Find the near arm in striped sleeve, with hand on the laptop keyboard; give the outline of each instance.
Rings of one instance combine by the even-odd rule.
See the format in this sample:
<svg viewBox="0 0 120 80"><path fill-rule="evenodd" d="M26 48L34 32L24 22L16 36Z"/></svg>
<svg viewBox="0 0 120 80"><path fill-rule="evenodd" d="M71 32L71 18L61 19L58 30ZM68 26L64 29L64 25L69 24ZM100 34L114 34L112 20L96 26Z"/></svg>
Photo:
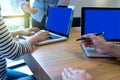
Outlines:
<svg viewBox="0 0 120 80"><path fill-rule="evenodd" d="M18 34L18 33L17 33ZM20 34L20 33L19 33ZM16 35L16 33L14 33ZM32 46L37 41L45 40L49 37L49 32L38 32L29 40L15 41L1 17L0 7L0 54L9 59L15 59L21 55L30 52Z"/></svg>

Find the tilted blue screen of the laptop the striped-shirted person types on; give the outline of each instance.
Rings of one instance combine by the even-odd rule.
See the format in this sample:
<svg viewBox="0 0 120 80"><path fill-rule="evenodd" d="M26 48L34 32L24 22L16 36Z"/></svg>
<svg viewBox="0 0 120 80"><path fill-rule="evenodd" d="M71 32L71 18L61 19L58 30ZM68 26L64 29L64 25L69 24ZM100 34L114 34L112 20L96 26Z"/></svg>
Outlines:
<svg viewBox="0 0 120 80"><path fill-rule="evenodd" d="M71 27L72 9L63 7L50 7L46 29L68 36Z"/></svg>

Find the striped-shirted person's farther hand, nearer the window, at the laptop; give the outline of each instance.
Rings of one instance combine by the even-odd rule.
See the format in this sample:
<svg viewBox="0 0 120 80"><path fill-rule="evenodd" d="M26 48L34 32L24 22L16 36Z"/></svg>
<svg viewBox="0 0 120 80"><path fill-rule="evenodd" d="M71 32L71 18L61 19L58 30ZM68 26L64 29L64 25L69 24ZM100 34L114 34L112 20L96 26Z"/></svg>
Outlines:
<svg viewBox="0 0 120 80"><path fill-rule="evenodd" d="M33 35L33 34L35 34L35 33L38 32L38 31L40 31L40 29L37 28L37 27L26 28L26 29L24 29L24 30L21 30L22 35L24 35L24 36Z"/></svg>

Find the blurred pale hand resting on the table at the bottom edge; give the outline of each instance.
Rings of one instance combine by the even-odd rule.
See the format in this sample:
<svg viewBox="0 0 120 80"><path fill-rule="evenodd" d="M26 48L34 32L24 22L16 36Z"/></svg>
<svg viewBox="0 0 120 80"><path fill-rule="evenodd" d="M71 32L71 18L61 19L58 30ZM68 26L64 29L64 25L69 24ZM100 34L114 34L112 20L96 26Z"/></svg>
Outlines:
<svg viewBox="0 0 120 80"><path fill-rule="evenodd" d="M63 80L93 80L92 76L85 70L67 68L62 72Z"/></svg>

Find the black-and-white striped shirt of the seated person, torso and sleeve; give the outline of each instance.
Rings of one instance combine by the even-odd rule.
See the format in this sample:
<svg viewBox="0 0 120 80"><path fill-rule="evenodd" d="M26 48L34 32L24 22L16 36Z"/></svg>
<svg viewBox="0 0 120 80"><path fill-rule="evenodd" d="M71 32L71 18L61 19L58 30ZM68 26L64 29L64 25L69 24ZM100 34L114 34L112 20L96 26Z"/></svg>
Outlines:
<svg viewBox="0 0 120 80"><path fill-rule="evenodd" d="M6 79L6 58L15 59L29 52L31 45L28 41L15 41L6 28L1 16L0 7L0 80Z"/></svg>

